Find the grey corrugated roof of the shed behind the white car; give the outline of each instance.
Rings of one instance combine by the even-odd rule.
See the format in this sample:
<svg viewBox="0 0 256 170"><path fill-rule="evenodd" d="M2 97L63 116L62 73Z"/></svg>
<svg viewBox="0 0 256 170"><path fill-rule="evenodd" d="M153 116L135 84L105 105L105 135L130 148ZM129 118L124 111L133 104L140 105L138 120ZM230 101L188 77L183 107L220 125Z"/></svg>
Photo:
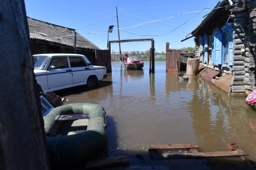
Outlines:
<svg viewBox="0 0 256 170"><path fill-rule="evenodd" d="M72 47L74 45L75 29L54 25L52 23L47 23L36 19L31 19L30 17L28 17L28 26L31 39L56 42ZM97 50L100 49L95 44L93 44L93 42L87 40L87 38L83 37L78 32L76 34L76 47Z"/></svg>

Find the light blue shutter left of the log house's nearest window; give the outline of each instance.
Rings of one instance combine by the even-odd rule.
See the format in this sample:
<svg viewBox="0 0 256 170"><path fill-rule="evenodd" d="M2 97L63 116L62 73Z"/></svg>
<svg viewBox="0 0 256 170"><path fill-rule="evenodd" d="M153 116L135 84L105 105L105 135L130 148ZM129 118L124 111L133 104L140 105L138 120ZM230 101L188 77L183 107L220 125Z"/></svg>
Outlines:
<svg viewBox="0 0 256 170"><path fill-rule="evenodd" d="M215 33L215 65L221 64L222 56L222 33L217 29Z"/></svg>

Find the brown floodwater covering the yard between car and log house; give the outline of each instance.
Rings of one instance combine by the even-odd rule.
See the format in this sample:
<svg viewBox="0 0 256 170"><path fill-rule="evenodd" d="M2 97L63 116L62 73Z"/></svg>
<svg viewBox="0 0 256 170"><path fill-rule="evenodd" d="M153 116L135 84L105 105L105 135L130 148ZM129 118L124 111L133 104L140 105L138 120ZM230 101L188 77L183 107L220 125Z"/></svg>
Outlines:
<svg viewBox="0 0 256 170"><path fill-rule="evenodd" d="M155 74L148 73L148 62L141 71L114 62L99 88L57 93L70 102L102 105L109 156L130 156L133 169L247 169L233 158L154 161L147 153L150 144L197 144L203 151L222 151L236 142L256 161L256 111L245 97L230 96L198 75L179 81L176 73L165 72L165 62L156 62Z"/></svg>

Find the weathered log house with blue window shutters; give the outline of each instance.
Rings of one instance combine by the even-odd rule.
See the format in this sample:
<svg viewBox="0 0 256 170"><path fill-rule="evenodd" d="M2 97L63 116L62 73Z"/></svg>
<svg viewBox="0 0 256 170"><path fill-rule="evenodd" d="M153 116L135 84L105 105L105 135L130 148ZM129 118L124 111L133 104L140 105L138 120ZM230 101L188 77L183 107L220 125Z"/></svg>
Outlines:
<svg viewBox="0 0 256 170"><path fill-rule="evenodd" d="M219 2L191 34L195 38L195 56L200 58L200 67L205 68L201 75L210 74L213 83L216 75L218 81L225 75L219 87L227 86L222 89L228 93L253 90L256 1Z"/></svg>

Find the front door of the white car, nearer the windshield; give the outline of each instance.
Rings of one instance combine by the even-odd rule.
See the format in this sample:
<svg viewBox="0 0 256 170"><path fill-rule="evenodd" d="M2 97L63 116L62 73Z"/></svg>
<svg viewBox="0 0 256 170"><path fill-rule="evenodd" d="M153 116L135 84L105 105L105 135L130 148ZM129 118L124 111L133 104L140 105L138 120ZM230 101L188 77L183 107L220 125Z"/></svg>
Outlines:
<svg viewBox="0 0 256 170"><path fill-rule="evenodd" d="M72 85L72 70L67 57L52 58L47 68L47 83L49 89Z"/></svg>

